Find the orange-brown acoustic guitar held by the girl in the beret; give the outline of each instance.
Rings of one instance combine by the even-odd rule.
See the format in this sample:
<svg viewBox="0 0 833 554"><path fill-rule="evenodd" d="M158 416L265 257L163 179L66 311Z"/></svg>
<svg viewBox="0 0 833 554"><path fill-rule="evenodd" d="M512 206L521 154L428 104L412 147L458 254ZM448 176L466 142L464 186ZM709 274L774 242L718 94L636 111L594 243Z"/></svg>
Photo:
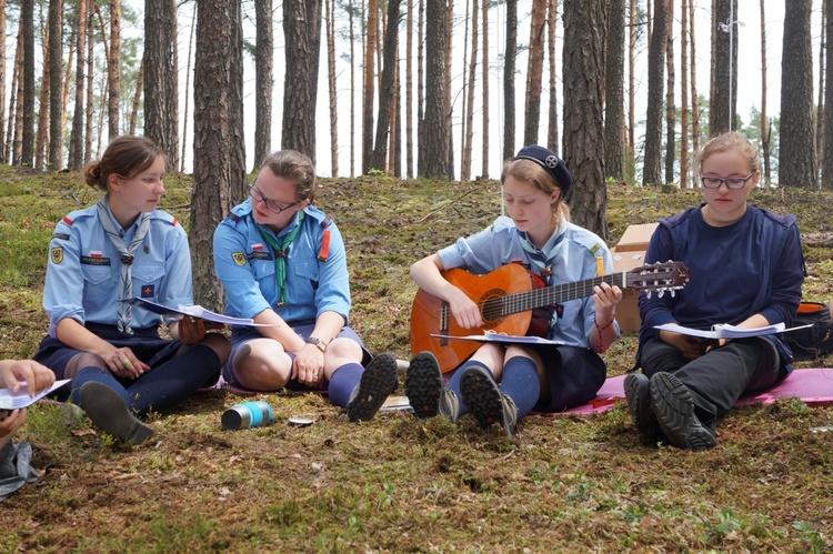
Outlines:
<svg viewBox="0 0 833 554"><path fill-rule="evenodd" d="M485 275L474 275L461 269L443 271L442 275L465 292L480 306L483 316L483 326L463 329L456 324L446 302L422 289L416 291L411 306L411 352L432 352L440 362L440 370L445 373L465 361L481 344L432 334L465 336L493 331L543 336L554 304L591 296L595 285L604 282L621 289L648 291L649 294L652 291L673 294L685 285L689 270L682 262L655 263L553 286L546 286L539 275L514 263Z"/></svg>

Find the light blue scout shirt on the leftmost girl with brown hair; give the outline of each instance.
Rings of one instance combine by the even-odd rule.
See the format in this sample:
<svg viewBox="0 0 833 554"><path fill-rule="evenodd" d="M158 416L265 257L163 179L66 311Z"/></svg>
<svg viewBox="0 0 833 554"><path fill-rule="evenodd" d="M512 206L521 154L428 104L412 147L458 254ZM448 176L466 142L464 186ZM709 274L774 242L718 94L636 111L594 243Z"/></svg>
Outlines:
<svg viewBox="0 0 833 554"><path fill-rule="evenodd" d="M124 242L136 234L139 220L124 231L107 210ZM154 210L144 242L134 254L133 296L160 304L191 304L191 253L188 235L167 212ZM120 298L121 256L99 221L96 205L64 216L49 242L49 263L43 288L43 308L49 316L49 335L64 318L116 325ZM134 308L131 326L157 326L162 316Z"/></svg>

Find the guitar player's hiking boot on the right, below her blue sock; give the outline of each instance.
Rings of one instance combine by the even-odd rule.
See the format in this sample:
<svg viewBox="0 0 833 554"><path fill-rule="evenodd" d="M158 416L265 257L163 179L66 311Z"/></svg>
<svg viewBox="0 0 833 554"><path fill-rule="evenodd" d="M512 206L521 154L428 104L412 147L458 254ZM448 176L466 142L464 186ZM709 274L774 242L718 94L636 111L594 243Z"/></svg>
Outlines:
<svg viewBox="0 0 833 554"><path fill-rule="evenodd" d="M489 429L500 423L506 436L512 439L518 425L518 407L512 399L501 393L489 370L480 365L463 370L460 393L481 427Z"/></svg>

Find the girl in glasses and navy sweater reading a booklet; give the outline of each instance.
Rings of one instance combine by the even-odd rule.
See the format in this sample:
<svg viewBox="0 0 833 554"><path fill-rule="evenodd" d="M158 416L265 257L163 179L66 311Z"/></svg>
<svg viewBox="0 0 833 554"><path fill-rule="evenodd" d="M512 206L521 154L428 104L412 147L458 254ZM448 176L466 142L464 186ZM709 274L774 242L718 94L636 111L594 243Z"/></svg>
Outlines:
<svg viewBox="0 0 833 554"><path fill-rule="evenodd" d="M713 138L697 168L704 202L660 220L645 255L648 263L684 262L691 281L674 296L640 296L642 373L628 375L624 387L641 432L702 451L716 445L717 419L741 394L771 387L792 371L792 354L777 335L706 341L654 325L789 326L801 299L804 259L793 215L747 203L761 172L745 137Z"/></svg>

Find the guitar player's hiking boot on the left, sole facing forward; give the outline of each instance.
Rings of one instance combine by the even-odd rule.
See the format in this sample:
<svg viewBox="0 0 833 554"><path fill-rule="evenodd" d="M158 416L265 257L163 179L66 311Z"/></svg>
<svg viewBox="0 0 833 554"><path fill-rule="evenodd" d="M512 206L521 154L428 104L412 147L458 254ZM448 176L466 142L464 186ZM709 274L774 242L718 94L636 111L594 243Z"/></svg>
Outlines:
<svg viewBox="0 0 833 554"><path fill-rule="evenodd" d="M420 420L442 414L452 423L460 416L460 400L445 389L440 364L431 352L420 352L405 373L405 396Z"/></svg>

